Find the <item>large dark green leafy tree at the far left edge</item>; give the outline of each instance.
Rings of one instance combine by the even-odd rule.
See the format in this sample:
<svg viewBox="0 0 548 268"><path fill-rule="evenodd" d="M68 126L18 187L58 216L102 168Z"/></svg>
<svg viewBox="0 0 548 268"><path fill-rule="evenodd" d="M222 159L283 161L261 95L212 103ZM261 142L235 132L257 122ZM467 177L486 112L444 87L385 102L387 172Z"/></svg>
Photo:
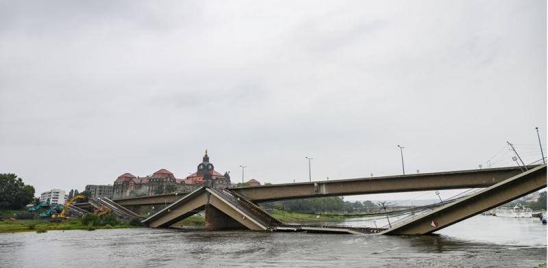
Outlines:
<svg viewBox="0 0 548 268"><path fill-rule="evenodd" d="M34 187L15 174L0 174L0 208L21 209L34 201Z"/></svg>

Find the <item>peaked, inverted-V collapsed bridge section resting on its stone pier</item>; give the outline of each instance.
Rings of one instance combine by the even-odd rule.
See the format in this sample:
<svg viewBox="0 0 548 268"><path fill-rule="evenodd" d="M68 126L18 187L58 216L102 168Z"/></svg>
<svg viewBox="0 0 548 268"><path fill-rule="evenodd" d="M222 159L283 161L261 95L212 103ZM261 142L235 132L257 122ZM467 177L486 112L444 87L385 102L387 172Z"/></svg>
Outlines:
<svg viewBox="0 0 548 268"><path fill-rule="evenodd" d="M169 227L200 211L206 211L208 230L269 230L282 224L256 204L229 191L200 187L158 211L142 223L149 227Z"/></svg>

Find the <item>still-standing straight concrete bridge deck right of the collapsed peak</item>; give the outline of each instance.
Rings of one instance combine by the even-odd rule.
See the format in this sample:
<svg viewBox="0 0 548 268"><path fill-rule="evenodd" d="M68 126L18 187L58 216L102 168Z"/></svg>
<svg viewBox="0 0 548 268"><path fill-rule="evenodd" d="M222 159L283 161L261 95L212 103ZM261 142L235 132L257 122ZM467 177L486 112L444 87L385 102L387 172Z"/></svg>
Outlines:
<svg viewBox="0 0 548 268"><path fill-rule="evenodd" d="M312 183L284 183L260 187L236 187L230 190L253 202L269 202L320 196L483 188L500 183L519 173L521 173L519 167L499 167L376 178L324 180Z"/></svg>

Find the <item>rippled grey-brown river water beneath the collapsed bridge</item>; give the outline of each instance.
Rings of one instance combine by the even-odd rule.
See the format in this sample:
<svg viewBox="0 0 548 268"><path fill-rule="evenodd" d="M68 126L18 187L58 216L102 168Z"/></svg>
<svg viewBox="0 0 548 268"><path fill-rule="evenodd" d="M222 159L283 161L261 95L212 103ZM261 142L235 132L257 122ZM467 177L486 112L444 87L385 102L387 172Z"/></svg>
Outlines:
<svg viewBox="0 0 548 268"><path fill-rule="evenodd" d="M439 235L412 237L196 228L20 232L0 234L0 267L534 267L547 261L546 235L536 218L482 215Z"/></svg>

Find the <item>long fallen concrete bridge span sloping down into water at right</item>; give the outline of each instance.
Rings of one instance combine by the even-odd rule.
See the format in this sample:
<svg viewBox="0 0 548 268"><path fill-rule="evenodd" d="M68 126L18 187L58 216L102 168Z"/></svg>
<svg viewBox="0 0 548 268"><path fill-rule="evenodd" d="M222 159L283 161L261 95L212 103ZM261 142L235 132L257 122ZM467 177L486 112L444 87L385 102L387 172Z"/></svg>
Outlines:
<svg viewBox="0 0 548 268"><path fill-rule="evenodd" d="M545 187L546 165L539 165L461 200L397 224L380 235L427 235Z"/></svg>

